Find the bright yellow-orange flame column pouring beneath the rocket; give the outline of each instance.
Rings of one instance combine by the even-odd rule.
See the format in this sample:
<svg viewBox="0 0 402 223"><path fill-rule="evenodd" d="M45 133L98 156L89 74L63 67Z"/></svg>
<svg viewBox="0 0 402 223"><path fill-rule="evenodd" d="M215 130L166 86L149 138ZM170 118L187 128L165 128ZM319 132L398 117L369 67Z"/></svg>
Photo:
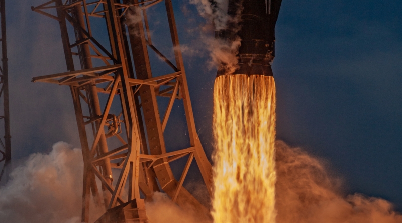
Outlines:
<svg viewBox="0 0 402 223"><path fill-rule="evenodd" d="M275 222L275 107L273 77L215 80L215 223Z"/></svg>

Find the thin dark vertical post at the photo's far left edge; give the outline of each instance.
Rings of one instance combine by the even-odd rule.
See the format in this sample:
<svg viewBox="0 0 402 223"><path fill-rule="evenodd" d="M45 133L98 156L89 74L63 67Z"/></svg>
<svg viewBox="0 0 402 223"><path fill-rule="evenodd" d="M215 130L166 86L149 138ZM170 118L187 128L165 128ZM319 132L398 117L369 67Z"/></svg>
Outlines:
<svg viewBox="0 0 402 223"><path fill-rule="evenodd" d="M4 146L6 153L5 166L11 162L11 135L10 135L10 109L9 109L9 70L7 61L7 41L6 41L6 8L5 0L1 0L1 19L2 19L2 63L3 63L3 100L4 100ZM7 167L8 169L10 167ZM6 169L6 177L7 177Z"/></svg>

